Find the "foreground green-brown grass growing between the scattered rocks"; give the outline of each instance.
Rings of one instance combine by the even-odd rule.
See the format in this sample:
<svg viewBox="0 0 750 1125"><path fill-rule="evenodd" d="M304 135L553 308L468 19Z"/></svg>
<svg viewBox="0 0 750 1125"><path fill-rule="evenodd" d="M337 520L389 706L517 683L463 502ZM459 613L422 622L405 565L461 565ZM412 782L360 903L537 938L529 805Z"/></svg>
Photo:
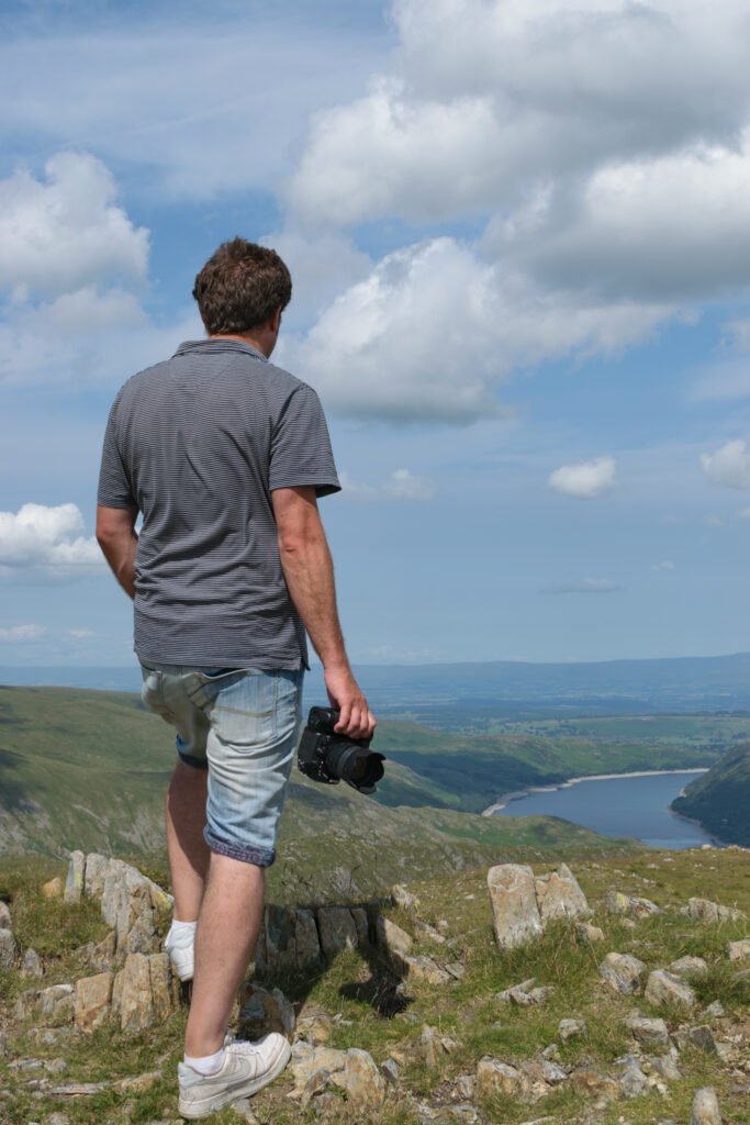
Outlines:
<svg viewBox="0 0 750 1125"><path fill-rule="evenodd" d="M557 857L555 857L557 862ZM549 860L535 865L539 872L549 870ZM458 1076L472 1074L477 1062L489 1054L513 1063L539 1059L551 1042L559 1042L558 1023L575 1017L586 1020L586 1040L561 1044L566 1064L586 1064L618 1073L616 1060L631 1050L623 1019L635 1010L648 1016L665 1015L674 1032L685 1020L677 1011L651 1009L642 997L620 997L602 989L598 964L609 950L631 953L649 969L663 968L686 954L704 957L708 975L697 984L701 1006L720 999L728 1011L726 1020L713 1023L720 1037L744 1033L750 1036L750 984L738 982L726 960L726 943L748 934L747 924L725 922L710 926L686 919L678 908L690 896L719 899L726 904L748 909L750 903L750 864L748 854L732 850L657 853L643 852L622 857L580 857L573 864L589 902L596 911L595 922L603 927L606 940L588 948L575 940L572 927L558 925L540 940L513 953L497 952L491 933L491 918L486 889L486 870L461 874L444 873L418 884L410 884L421 902L421 917L435 924L445 919L453 945L445 952L428 943L417 945L419 952L439 961L463 963L464 978L457 984L430 987L409 982L404 1010L385 1017L381 1002L392 990L385 971L374 958L360 953L342 954L323 972L310 978L274 979L291 1000L322 1006L334 1024L331 1046L356 1046L371 1052L378 1063L391 1053L399 1058L400 1082L389 1094L386 1107L369 1116L371 1125L418 1125L417 1104L430 1106L451 1104L451 1083ZM40 883L56 873L53 861L0 860L0 897L10 900L16 933L21 948L35 946L47 961L46 984L70 981L84 973L74 951L85 940L102 936L103 929L96 907L83 902L63 908L44 902ZM308 872L309 873L309 872ZM611 888L631 894L642 894L666 908L663 915L639 921L627 929L620 917L604 909ZM394 908L385 912L400 926L413 930L413 919ZM554 992L548 1004L537 1008L516 1009L498 1004L494 997L500 990L536 976L539 983L551 984ZM28 988L17 973L0 974L0 1030L9 1035L10 1054L0 1058L0 1087L10 1098L0 1107L0 1119L8 1125L46 1120L61 1108L71 1125L146 1125L174 1117L175 1062L181 1053L184 1012L177 1012L159 1027L137 1036L123 1035L109 1026L94 1036L73 1036L64 1045L45 1045L36 1037L36 1028L15 1027L10 1022L11 1004L18 991ZM696 1015L689 1023L702 1023ZM428 1024L455 1042L451 1054L442 1058L432 1070L425 1068L421 1044L422 1028ZM742 1045L737 1047L739 1052ZM654 1053L661 1053L656 1051ZM13 1058L53 1060L64 1055L69 1070L64 1081L98 1081L161 1071L162 1078L151 1090L136 1094L105 1091L93 1098L69 1099L64 1105L49 1096L35 1098L30 1080L37 1072L12 1070ZM695 1090L714 1086L719 1092L724 1125L746 1125L747 1092L737 1064L724 1064L715 1056L696 1050L685 1050L679 1056L683 1079L669 1083L662 1098L653 1092L633 1100L617 1100L594 1108L568 1090L554 1092L535 1106L504 1099L482 1106L484 1119L519 1125L530 1119L543 1119L549 1125L654 1125L670 1119L687 1123ZM311 1120L287 1098L288 1076L262 1091L253 1100L253 1110L261 1122L274 1125L301 1125ZM336 1123L351 1125L351 1114L342 1104ZM441 1120L453 1120L445 1113ZM224 1110L211 1118L213 1125L237 1125L240 1117Z"/></svg>

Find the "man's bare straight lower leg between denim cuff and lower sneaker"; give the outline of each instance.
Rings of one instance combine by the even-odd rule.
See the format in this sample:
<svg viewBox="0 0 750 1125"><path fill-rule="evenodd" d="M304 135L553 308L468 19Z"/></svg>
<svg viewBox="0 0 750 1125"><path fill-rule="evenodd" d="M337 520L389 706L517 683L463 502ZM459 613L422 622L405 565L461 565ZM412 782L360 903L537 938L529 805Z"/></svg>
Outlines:
<svg viewBox="0 0 750 1125"><path fill-rule="evenodd" d="M232 1006L257 940L263 890L263 867L211 854L184 1037L184 1053L193 1059L214 1054L224 1043Z"/></svg>

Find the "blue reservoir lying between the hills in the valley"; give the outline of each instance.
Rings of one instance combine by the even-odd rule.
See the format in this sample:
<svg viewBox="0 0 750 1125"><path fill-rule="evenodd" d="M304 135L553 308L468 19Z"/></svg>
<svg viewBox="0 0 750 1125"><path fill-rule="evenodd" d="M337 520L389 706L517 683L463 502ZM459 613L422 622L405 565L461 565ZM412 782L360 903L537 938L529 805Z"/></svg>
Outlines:
<svg viewBox="0 0 750 1125"><path fill-rule="evenodd" d="M670 812L669 804L703 771L582 778L561 789L536 790L505 798L501 817L561 817L603 836L634 836L651 847L672 850L716 840L690 820Z"/></svg>

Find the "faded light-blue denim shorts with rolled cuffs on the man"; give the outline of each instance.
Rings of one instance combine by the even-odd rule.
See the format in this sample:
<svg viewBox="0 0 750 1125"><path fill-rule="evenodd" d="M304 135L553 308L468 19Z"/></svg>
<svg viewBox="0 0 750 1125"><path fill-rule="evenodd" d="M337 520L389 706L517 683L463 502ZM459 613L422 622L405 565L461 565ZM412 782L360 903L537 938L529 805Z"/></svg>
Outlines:
<svg viewBox="0 0 750 1125"><path fill-rule="evenodd" d="M208 770L206 843L269 867L299 740L302 670L142 668L144 704L175 728L181 760Z"/></svg>

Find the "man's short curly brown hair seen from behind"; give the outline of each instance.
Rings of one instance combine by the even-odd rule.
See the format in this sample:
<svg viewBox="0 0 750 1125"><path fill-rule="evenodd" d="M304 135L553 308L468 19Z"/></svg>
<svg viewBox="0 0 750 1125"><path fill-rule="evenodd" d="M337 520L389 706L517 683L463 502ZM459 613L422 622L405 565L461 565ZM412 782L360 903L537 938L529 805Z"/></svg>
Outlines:
<svg viewBox="0 0 750 1125"><path fill-rule="evenodd" d="M211 254L192 295L210 336L244 335L287 307L291 274L275 250L237 237Z"/></svg>

